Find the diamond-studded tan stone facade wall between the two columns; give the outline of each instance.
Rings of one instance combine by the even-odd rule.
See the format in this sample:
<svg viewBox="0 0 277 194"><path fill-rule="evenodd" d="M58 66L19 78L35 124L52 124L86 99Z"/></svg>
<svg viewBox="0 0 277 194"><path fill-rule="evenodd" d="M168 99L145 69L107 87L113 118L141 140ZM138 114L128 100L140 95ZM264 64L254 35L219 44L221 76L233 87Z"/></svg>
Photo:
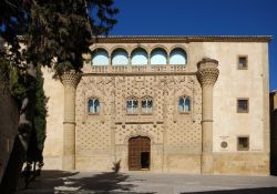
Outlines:
<svg viewBox="0 0 277 194"><path fill-rule="evenodd" d="M145 96L153 99L152 114L141 112ZM179 96L191 98L188 113L179 113ZM99 114L89 113L91 98L100 100ZM138 101L136 114L126 113L129 98ZM106 156L121 159L126 167L129 139L138 135L151 139L153 159L161 165L171 154L201 153L201 85L195 75L84 75L75 105L76 157L105 155L104 163Z"/></svg>

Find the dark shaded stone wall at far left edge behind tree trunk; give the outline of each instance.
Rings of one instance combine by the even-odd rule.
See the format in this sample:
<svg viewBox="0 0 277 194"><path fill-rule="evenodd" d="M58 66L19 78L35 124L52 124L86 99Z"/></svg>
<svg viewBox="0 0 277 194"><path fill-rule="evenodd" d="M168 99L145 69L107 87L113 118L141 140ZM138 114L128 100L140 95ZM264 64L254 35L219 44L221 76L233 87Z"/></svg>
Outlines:
<svg viewBox="0 0 277 194"><path fill-rule="evenodd" d="M0 78L0 182L12 151L18 133L19 112L9 86Z"/></svg>

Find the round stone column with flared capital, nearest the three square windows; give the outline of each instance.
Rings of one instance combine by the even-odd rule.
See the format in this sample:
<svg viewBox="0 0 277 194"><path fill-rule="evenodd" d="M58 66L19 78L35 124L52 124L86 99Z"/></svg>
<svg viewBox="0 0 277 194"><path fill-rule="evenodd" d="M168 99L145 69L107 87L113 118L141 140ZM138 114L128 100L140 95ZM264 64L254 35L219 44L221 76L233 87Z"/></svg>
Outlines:
<svg viewBox="0 0 277 194"><path fill-rule="evenodd" d="M202 85L202 160L201 172L213 173L213 89L218 78L218 61L204 58L197 63L197 79Z"/></svg>

